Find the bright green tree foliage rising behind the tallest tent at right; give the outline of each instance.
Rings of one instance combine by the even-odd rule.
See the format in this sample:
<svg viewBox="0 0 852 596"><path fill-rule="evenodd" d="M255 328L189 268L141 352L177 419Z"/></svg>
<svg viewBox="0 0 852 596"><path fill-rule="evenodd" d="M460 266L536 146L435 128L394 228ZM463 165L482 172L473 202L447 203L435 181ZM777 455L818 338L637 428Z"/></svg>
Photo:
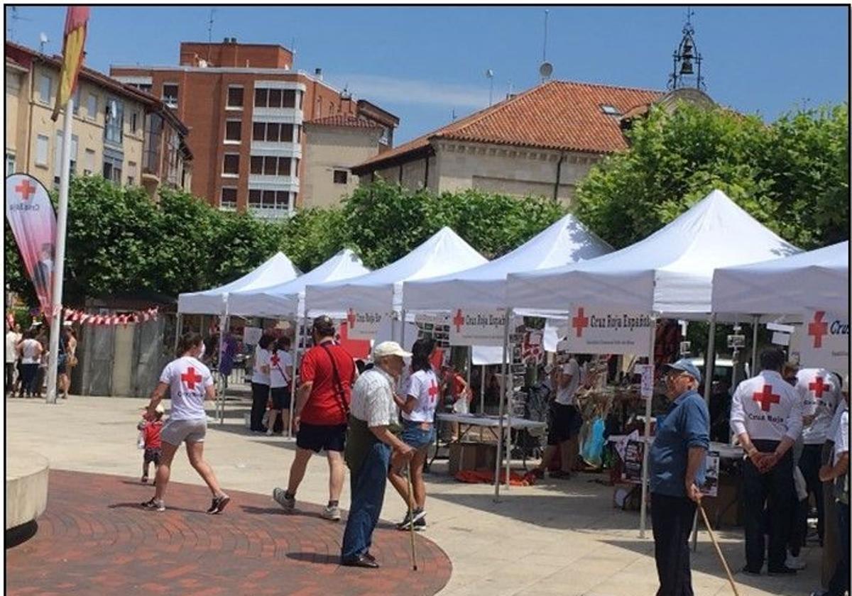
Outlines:
<svg viewBox="0 0 852 596"><path fill-rule="evenodd" d="M848 107L797 112L770 125L729 110L654 107L630 149L579 185L576 214L623 248L714 188L803 249L849 236Z"/></svg>

